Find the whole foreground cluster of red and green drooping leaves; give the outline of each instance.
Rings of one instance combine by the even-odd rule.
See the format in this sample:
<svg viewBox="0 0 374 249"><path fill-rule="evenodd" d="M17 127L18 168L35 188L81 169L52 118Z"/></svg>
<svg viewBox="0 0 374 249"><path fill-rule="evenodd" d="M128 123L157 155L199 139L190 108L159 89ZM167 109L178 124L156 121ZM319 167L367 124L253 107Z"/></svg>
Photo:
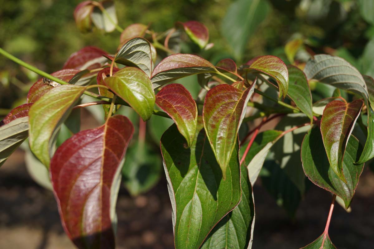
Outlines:
<svg viewBox="0 0 374 249"><path fill-rule="evenodd" d="M83 31L92 23L108 32L118 27L109 0L85 1L74 17ZM178 53L181 34L200 49L212 46L207 28L196 21L178 22L162 34L133 24L122 31L114 55L85 47L62 70L42 72L45 78L30 88L27 103L1 121L0 166L28 139L49 175L45 185L53 189L64 230L78 248L114 248L122 175L134 195L157 181L150 173L156 166L144 165L153 154L145 121L154 115L175 123L163 133L160 150L177 249L251 248L258 176L291 216L306 191L306 177L349 208L364 163L374 157L373 78L337 56L295 58L304 50L302 39L285 47L293 65L271 55L239 67L230 58L213 65ZM201 88L197 99L172 83L192 75ZM313 101L312 85L334 90ZM83 95L98 101L80 104ZM79 131L76 110L98 104L104 124ZM126 107L140 119L122 115ZM260 132L278 117L275 129ZM257 118L262 122L249 130L248 122ZM131 142L134 122L138 139ZM141 167L147 167L147 181L134 184ZM325 229L305 248L335 246Z"/></svg>

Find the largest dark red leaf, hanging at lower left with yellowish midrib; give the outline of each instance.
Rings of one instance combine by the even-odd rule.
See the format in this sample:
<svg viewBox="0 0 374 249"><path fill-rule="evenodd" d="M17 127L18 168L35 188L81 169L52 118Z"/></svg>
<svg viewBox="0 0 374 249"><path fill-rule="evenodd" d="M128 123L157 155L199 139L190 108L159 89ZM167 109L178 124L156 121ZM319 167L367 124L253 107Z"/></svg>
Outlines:
<svg viewBox="0 0 374 249"><path fill-rule="evenodd" d="M116 115L102 126L69 138L51 160L50 175L61 222L80 249L114 249L112 222L120 172L133 133L128 118Z"/></svg>

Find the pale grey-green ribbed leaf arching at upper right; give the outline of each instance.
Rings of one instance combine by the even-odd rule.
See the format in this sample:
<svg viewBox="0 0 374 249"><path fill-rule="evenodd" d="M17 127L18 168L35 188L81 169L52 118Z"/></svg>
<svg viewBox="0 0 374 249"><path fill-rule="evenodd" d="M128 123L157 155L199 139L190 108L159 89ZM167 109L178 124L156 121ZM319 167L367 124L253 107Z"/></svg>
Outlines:
<svg viewBox="0 0 374 249"><path fill-rule="evenodd" d="M361 73L343 58L315 55L313 59L307 61L304 73L308 80L315 79L369 98L368 89Z"/></svg>

